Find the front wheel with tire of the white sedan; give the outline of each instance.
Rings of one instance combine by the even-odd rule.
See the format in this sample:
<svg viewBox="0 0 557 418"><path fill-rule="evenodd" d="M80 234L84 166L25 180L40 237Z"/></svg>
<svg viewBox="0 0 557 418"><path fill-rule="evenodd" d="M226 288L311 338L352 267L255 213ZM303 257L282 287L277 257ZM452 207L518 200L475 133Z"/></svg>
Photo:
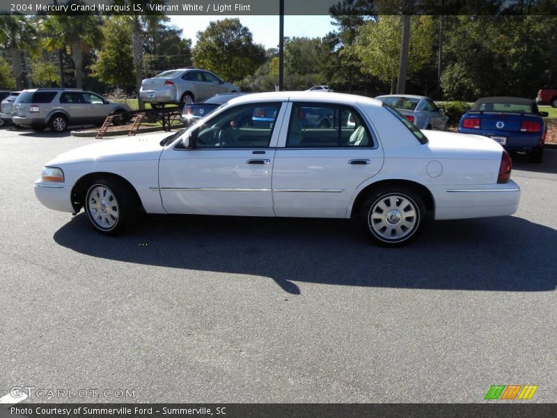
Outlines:
<svg viewBox="0 0 557 418"><path fill-rule="evenodd" d="M102 190L108 193L103 194ZM104 235L118 235L139 222L141 204L129 185L100 178L88 187L84 208L95 231Z"/></svg>

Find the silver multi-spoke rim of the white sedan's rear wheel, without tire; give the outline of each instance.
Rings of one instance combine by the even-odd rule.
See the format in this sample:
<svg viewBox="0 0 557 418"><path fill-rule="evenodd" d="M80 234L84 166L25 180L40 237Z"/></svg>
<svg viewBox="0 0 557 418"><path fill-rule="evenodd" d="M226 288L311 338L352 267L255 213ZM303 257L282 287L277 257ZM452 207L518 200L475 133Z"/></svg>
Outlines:
<svg viewBox="0 0 557 418"><path fill-rule="evenodd" d="M418 224L418 211L411 199L399 194L384 196L373 203L368 218L375 235L389 241L410 235Z"/></svg>

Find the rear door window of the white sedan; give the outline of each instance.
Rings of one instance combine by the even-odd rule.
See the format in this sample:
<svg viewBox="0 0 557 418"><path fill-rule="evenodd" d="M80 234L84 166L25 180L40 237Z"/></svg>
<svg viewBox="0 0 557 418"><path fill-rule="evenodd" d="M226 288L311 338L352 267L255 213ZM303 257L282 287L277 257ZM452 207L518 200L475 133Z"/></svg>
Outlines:
<svg viewBox="0 0 557 418"><path fill-rule="evenodd" d="M292 105L287 148L372 147L370 131L356 109L338 104Z"/></svg>

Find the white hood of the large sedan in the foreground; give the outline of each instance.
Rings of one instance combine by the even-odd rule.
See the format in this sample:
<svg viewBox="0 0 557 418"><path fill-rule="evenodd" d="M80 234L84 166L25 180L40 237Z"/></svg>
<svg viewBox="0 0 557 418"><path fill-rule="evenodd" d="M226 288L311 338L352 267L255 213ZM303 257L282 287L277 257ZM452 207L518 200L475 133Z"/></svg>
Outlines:
<svg viewBox="0 0 557 418"><path fill-rule="evenodd" d="M169 135L171 133L160 132L141 137L104 139L96 144L81 146L58 155L46 165L56 166L92 161L158 160L163 150L160 141Z"/></svg>

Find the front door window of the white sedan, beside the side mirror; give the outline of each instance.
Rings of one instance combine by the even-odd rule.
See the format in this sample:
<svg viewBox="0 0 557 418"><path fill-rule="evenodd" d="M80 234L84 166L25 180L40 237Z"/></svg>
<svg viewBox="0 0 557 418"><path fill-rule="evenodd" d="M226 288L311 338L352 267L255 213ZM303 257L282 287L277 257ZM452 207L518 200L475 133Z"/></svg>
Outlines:
<svg viewBox="0 0 557 418"><path fill-rule="evenodd" d="M231 107L197 128L196 148L267 148L281 103Z"/></svg>

